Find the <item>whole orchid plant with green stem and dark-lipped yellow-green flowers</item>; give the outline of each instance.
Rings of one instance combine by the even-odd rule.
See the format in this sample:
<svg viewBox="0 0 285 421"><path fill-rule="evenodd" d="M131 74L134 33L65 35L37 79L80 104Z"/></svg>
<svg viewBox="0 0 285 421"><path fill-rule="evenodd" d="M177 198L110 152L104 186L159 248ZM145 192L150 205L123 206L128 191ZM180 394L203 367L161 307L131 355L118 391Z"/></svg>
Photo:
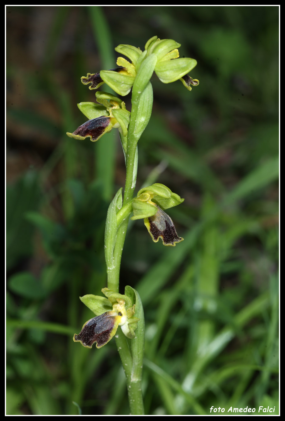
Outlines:
<svg viewBox="0 0 285 421"><path fill-rule="evenodd" d="M132 415L143 414L142 368L144 347L144 316L140 296L134 288L126 285L125 294L119 293L121 255L126 229L131 219L143 219L154 242L161 238L163 245L175 246L183 241L179 237L171 218L164 212L179 205L184 199L160 183L140 189L136 197L137 142L145 130L152 111L153 90L150 79L153 72L162 83L180 80L191 91L199 84L188 73L197 62L190 58L179 58L180 44L174 40L152 37L145 50L133 45L120 44L115 50L129 60L118 57L116 69L87 73L81 77L89 89L97 89L106 83L118 95L126 96L132 90L132 109L126 109L124 101L103 91L96 92L97 103L81 102L78 108L88 118L73 133L74 139L90 138L97 141L113 128L118 128L126 163L124 197L118 190L108 208L105 226L105 260L108 288L103 296L87 294L81 301L95 314L88 320L73 340L91 348L96 343L101 348L116 334L116 344L126 374L129 405ZM121 329L118 329L121 326Z"/></svg>

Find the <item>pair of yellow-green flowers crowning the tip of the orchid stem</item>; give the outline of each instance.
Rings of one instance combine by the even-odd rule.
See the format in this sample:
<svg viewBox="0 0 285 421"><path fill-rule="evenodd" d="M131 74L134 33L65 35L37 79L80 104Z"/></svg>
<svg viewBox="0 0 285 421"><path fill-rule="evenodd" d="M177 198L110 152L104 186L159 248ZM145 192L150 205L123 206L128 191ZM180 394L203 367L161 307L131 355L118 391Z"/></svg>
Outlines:
<svg viewBox="0 0 285 421"><path fill-rule="evenodd" d="M89 89L97 89L102 83L107 83L119 95L127 95L134 85L135 78L141 65L145 82L148 83L149 72L154 72L163 83L171 83L181 80L183 85L191 91L191 85L199 84L199 80L192 79L188 74L197 64L195 59L179 58L178 48L180 44L174 40L160 40L157 36L152 37L145 44L145 51L133 45L120 44L115 50L124 54L131 62L118 57L117 69L101 70L98 73L88 73L86 77L81 77L85 85L91 83ZM142 70L142 69L141 69ZM146 71L148 70L148 71ZM138 91L145 87L144 77L140 78L140 83L136 86Z"/></svg>

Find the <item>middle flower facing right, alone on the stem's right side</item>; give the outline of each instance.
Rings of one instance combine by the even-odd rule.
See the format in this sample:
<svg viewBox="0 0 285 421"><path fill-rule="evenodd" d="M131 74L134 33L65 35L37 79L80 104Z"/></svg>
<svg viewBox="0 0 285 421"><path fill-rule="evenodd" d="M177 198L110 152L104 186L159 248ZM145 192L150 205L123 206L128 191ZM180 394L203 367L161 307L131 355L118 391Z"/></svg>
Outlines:
<svg viewBox="0 0 285 421"><path fill-rule="evenodd" d="M183 241L183 238L177 235L172 219L162 209L172 208L183 201L184 199L172 193L168 187L155 183L138 192L132 203L134 216L131 219L143 218L154 242L161 238L163 245L175 246L177 242Z"/></svg>

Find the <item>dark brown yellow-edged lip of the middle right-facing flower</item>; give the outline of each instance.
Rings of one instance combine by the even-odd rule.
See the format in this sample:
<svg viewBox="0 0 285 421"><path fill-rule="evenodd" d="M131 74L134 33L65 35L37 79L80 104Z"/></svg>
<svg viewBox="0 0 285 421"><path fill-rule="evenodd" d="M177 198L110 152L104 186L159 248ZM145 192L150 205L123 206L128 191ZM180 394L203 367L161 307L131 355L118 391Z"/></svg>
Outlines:
<svg viewBox="0 0 285 421"><path fill-rule="evenodd" d="M177 235L172 219L159 206L156 214L145 218L144 223L154 242L161 238L163 245L175 246L177 242L183 241L183 238Z"/></svg>

